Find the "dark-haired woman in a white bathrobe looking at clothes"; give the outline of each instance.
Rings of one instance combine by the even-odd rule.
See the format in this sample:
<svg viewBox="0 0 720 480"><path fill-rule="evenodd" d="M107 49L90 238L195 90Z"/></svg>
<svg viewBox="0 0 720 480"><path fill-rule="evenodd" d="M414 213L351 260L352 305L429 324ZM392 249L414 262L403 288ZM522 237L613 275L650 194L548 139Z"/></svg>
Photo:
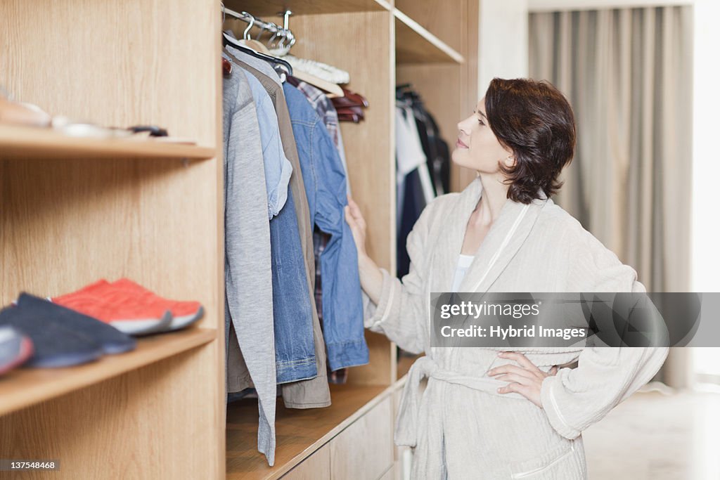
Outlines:
<svg viewBox="0 0 720 480"><path fill-rule="evenodd" d="M572 109L554 86L495 78L458 127L453 161L477 178L423 210L402 281L367 256L364 219L352 199L346 207L365 326L426 353L410 369L395 443L413 447L413 479L587 478L580 433L649 381L668 349L430 347L431 291L645 291L549 199L575 148Z"/></svg>

